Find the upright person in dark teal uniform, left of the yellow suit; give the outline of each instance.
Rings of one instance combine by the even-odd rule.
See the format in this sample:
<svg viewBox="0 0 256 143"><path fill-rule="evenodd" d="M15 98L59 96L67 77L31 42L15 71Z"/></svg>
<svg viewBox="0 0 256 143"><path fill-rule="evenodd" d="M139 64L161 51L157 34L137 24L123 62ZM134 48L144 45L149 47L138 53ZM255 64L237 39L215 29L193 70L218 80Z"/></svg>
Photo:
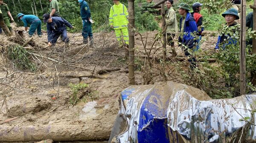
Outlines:
<svg viewBox="0 0 256 143"><path fill-rule="evenodd" d="M83 42L84 44L88 44L88 36L90 40L90 46L93 46L93 31L92 31L92 23L90 22L90 8L85 0L78 0L80 3L80 14L83 20Z"/></svg>

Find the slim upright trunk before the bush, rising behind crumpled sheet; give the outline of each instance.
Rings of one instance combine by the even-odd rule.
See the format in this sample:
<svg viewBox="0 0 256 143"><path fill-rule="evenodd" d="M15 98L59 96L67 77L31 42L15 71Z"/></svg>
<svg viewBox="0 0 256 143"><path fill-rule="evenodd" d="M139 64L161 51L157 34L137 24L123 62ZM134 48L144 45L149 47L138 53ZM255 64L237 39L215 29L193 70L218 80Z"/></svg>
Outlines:
<svg viewBox="0 0 256 143"><path fill-rule="evenodd" d="M241 0L241 29L240 29L240 94L245 94L245 32L246 32L246 0Z"/></svg>

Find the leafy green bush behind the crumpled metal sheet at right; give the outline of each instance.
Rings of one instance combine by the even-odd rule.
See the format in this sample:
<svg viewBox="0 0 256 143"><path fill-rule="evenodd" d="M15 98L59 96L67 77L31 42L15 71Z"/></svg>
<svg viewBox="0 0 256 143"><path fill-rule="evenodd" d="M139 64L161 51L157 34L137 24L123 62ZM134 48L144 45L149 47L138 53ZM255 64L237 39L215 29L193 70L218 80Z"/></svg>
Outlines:
<svg viewBox="0 0 256 143"><path fill-rule="evenodd" d="M230 34L232 39L237 39L236 44L226 45L224 49L221 48L218 52L214 53L193 53L190 51L195 57L201 54L200 61L203 62L197 62L197 67L190 68L188 64L191 63L189 62L172 63L176 67L177 73L181 76L184 84L204 90L212 98L232 98L240 95L239 31L233 31L234 29L239 29L239 27L225 26L221 30L221 34ZM246 37L256 37L255 32L248 29ZM246 93L256 92L256 87L250 83L250 73L256 71L256 55L249 53L251 51L250 47L248 45L246 50ZM217 59L217 63L209 63L207 61L209 58Z"/></svg>

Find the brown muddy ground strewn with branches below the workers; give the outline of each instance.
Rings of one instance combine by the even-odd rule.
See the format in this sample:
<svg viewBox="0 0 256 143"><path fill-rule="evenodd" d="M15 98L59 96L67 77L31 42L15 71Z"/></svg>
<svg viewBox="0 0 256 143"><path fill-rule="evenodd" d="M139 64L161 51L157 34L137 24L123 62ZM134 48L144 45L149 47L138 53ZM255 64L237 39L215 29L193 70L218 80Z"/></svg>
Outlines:
<svg viewBox="0 0 256 143"><path fill-rule="evenodd" d="M144 45L147 39L146 48L151 48L155 34L157 31L142 34ZM29 59L37 65L36 72L17 69L7 56L8 46L19 43L18 35L0 35L0 143L108 140L119 109L120 93L130 86L125 49L119 48L113 31L95 33L93 47L82 43L81 33L68 35L69 45L59 38L55 47L45 48L47 33L43 31L41 38L34 36L24 46L32 53ZM28 34L24 39L23 43L30 39ZM139 34L135 41L136 55L143 55ZM214 48L216 41L208 32L202 38L201 49ZM156 42L154 48L160 47L161 43ZM171 56L169 46L167 51ZM180 48L176 51L182 55ZM138 85L143 84L142 72L135 72ZM79 91L81 100L75 105L70 102L73 94L70 83L88 84Z"/></svg>

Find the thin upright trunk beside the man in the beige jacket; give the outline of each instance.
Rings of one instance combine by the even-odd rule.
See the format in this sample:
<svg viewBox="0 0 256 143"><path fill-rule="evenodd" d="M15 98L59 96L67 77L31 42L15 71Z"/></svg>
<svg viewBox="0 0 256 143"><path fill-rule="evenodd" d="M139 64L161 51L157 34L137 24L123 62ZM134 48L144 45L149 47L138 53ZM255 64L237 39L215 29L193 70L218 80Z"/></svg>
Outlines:
<svg viewBox="0 0 256 143"><path fill-rule="evenodd" d="M166 21L165 21L165 9L164 9L164 3L162 3L161 6L162 11L162 31L163 31L163 60L166 60Z"/></svg>

